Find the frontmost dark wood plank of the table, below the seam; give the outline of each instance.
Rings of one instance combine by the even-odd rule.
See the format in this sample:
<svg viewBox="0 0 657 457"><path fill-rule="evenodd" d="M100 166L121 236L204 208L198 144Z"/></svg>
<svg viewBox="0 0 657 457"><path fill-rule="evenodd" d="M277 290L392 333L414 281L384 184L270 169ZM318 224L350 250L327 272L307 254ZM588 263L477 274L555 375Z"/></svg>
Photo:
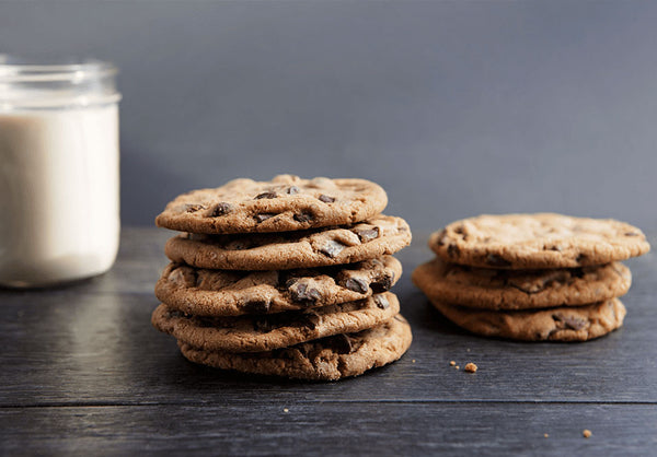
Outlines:
<svg viewBox="0 0 657 457"><path fill-rule="evenodd" d="M585 429L592 432L588 440ZM257 405L12 408L0 409L0 436L7 454L632 456L654 453L657 407L276 398Z"/></svg>

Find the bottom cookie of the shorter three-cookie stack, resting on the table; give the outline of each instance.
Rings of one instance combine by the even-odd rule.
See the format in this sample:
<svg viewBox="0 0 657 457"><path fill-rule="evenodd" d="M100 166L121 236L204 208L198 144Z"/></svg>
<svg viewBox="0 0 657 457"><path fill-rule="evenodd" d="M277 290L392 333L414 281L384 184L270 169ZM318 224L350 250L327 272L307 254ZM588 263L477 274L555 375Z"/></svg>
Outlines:
<svg viewBox="0 0 657 457"><path fill-rule="evenodd" d="M560 306L532 310L485 310L431 304L449 320L473 333L522 341L587 341L623 325L625 307L618 298L585 306Z"/></svg>

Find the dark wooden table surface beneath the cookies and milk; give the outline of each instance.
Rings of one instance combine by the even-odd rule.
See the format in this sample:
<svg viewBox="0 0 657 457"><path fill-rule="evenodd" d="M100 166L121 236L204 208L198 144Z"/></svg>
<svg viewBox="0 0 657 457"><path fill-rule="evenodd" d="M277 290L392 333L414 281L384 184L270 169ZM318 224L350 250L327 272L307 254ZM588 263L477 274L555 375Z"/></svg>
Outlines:
<svg viewBox="0 0 657 457"><path fill-rule="evenodd" d="M394 288L411 350L361 377L309 384L194 365L151 328L170 235L126 228L103 277L0 291L2 454L657 454L652 254L627 262L621 330L518 343L471 336L428 305L410 279L430 257L428 232L416 233Z"/></svg>

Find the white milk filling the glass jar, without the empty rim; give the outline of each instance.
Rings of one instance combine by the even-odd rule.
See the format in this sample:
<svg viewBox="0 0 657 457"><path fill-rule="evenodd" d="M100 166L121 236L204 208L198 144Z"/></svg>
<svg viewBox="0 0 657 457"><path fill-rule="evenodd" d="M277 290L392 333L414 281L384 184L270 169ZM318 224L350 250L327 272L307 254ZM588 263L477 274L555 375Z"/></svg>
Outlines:
<svg viewBox="0 0 657 457"><path fill-rule="evenodd" d="M116 104L0 110L0 284L107 271L118 249Z"/></svg>

